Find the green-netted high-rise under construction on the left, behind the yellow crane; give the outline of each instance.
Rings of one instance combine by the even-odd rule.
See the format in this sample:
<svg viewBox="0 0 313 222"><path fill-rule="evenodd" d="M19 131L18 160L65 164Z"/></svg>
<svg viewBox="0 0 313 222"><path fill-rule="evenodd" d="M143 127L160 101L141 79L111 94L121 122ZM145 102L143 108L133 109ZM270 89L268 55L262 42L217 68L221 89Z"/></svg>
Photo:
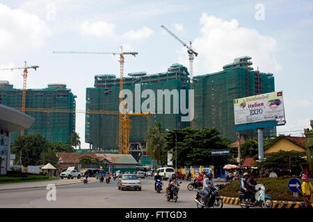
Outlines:
<svg viewBox="0 0 313 222"><path fill-rule="evenodd" d="M22 108L23 89L15 89L8 81L0 82L0 104ZM45 89L26 89L26 109L43 108L75 110L75 96L64 84L49 84ZM75 131L75 113L26 111L35 122L24 131L25 135L40 134L49 142L70 144L70 134ZM20 132L12 133L12 142Z"/></svg>

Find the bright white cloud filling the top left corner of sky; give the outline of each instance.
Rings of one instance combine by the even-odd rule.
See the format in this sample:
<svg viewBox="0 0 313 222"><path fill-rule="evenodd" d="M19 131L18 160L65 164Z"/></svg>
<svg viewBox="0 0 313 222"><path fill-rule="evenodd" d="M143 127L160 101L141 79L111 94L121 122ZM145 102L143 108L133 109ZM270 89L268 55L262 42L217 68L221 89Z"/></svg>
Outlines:
<svg viewBox="0 0 313 222"><path fill-rule="evenodd" d="M40 49L51 31L37 15L0 4L0 50Z"/></svg>

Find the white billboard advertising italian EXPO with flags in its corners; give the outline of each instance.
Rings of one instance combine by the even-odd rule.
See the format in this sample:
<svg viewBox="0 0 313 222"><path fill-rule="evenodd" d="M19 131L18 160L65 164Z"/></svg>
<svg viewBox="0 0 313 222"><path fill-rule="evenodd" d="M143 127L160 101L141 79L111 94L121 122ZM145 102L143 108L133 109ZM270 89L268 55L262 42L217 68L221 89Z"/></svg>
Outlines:
<svg viewBox="0 0 313 222"><path fill-rule="evenodd" d="M278 126L284 125L282 91L234 99L235 125L266 121L277 121Z"/></svg>

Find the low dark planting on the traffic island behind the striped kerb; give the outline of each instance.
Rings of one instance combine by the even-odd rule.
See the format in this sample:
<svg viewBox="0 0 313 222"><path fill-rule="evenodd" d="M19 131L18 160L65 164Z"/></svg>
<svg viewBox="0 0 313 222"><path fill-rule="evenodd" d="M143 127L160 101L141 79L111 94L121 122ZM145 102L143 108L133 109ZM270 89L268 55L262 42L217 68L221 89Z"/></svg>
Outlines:
<svg viewBox="0 0 313 222"><path fill-rule="evenodd" d="M257 183L265 186L265 194L270 196L273 200L289 200L289 201L303 201L303 196L299 194L299 197L294 197L288 188L288 182L290 178L262 178L257 179ZM310 179L313 184L313 179ZM302 183L302 180L301 180ZM240 189L240 181L232 182L224 189L219 191L220 196L239 197L238 191Z"/></svg>

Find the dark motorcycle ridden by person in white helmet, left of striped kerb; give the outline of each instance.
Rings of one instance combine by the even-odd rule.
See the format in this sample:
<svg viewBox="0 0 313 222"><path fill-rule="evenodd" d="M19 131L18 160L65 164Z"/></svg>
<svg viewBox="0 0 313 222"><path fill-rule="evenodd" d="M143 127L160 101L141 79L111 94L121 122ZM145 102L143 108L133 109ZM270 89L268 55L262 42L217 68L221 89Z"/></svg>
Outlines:
<svg viewBox="0 0 313 222"><path fill-rule="evenodd" d="M205 194L206 191L204 191L204 189L199 189L197 191L197 194L195 196L195 203L198 208L223 208L223 200L220 197L220 194L218 194L218 187L214 185L211 186L211 194L209 195L207 203L204 203Z"/></svg>

